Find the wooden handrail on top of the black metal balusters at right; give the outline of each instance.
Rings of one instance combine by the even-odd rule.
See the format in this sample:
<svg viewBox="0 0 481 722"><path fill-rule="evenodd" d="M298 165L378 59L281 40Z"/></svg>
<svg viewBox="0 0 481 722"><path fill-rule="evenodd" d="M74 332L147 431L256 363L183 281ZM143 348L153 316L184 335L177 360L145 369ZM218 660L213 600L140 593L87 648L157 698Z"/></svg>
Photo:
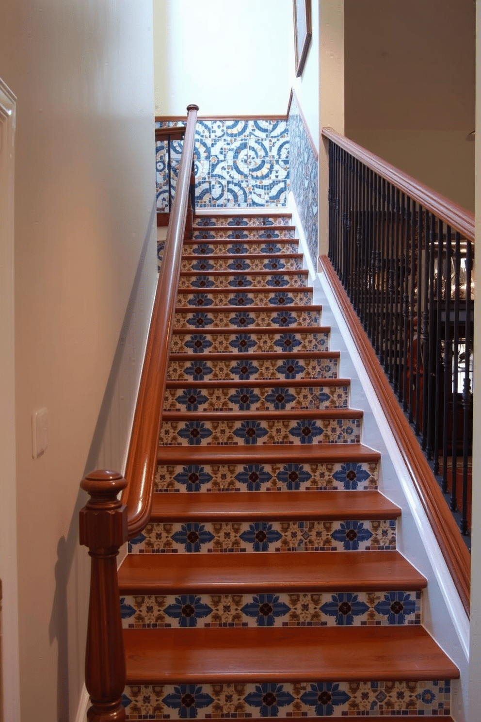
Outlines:
<svg viewBox="0 0 481 722"><path fill-rule="evenodd" d="M322 137L331 140L340 148L346 150L350 155L361 161L367 168L399 188L402 193L407 193L411 199L420 203L423 208L434 213L438 218L458 230L467 240L475 240L475 217L472 213L456 205L453 201L432 188L420 183L412 175L403 173L399 168L386 162L379 155L374 155L366 148L354 141L340 135L332 128L323 128Z"/></svg>

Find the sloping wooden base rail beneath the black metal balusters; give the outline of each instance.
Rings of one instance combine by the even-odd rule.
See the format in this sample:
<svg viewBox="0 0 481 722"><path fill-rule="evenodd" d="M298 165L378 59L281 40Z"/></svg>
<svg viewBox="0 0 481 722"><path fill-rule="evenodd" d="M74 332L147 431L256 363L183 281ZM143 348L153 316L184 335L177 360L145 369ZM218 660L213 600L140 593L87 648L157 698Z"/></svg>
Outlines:
<svg viewBox="0 0 481 722"><path fill-rule="evenodd" d="M361 326L356 311L353 309L329 258L319 256L319 264L330 284L332 293L343 310L350 334L359 349L363 365L377 393L402 457L405 459L412 484L418 492L420 502L431 523L459 597L469 615L471 557L466 544L459 534L456 521L444 500L428 461L426 461L414 432L394 396L389 380L376 357L376 352Z"/></svg>

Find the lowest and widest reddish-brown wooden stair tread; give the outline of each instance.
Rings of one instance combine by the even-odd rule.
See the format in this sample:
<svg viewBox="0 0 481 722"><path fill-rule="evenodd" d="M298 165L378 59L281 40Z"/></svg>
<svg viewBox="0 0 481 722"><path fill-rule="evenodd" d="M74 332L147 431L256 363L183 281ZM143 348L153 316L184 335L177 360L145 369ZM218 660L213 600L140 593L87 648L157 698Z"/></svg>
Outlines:
<svg viewBox="0 0 481 722"><path fill-rule="evenodd" d="M123 630L127 683L456 679L423 627Z"/></svg>

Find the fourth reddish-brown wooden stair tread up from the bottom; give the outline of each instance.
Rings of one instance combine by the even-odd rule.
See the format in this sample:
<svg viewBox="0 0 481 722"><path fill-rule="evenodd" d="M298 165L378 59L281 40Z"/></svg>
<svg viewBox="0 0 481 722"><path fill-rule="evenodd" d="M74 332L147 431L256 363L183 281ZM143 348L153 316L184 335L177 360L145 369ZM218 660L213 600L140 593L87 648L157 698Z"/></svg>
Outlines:
<svg viewBox="0 0 481 722"><path fill-rule="evenodd" d="M381 458L379 451L374 451L363 444L265 444L254 445L245 451L238 446L190 446L188 449L189 464L245 464L246 461L263 462L264 464L289 464L292 462L345 464L348 461L374 461ZM187 461L185 447L159 446L157 461L161 464L185 464ZM223 492L225 493L225 492ZM316 493L316 492L312 492Z"/></svg>

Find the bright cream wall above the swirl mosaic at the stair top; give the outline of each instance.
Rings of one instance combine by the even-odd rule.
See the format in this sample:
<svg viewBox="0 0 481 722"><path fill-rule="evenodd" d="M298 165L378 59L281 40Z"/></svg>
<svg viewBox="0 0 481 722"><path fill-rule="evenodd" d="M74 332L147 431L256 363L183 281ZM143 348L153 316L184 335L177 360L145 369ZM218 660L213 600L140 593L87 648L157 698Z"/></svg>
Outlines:
<svg viewBox="0 0 481 722"><path fill-rule="evenodd" d="M157 116L286 113L292 0L154 0L154 28Z"/></svg>

